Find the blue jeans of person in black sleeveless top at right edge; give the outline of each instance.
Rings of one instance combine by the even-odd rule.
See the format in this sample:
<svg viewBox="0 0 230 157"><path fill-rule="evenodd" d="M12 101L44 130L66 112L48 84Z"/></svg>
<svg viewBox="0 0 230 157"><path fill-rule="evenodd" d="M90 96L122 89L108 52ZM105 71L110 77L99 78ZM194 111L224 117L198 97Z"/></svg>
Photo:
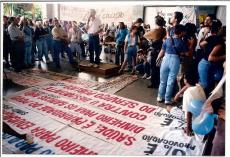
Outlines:
<svg viewBox="0 0 230 157"><path fill-rule="evenodd" d="M202 59L198 64L199 83L206 89L210 84L211 62Z"/></svg>

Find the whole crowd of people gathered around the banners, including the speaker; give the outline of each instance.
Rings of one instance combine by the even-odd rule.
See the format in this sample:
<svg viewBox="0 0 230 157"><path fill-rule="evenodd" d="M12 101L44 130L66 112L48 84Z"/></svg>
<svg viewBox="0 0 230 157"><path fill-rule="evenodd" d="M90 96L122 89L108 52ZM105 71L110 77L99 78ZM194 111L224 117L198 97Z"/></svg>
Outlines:
<svg viewBox="0 0 230 157"><path fill-rule="evenodd" d="M74 57L85 59L89 52L88 66L98 68L102 48L105 53L114 51L115 64L121 66L119 73L139 73L149 79L148 88L158 89L157 101L164 102L169 112L173 113L173 104L182 103L181 111L187 120L185 132L191 136L193 116L187 109L189 102L205 101L224 75L226 27L212 14L207 15L200 28L193 23L182 25L182 19L183 13L175 12L166 27L165 19L158 15L154 17L156 27L150 29L141 18L130 27L124 22L118 26L102 24L94 9L85 24L4 16L5 66L18 72L33 67L36 60L39 65L49 64L51 56L56 68L61 68L60 55L65 57L66 53L74 65ZM224 117L225 112L221 113L220 117ZM224 126L220 127L223 132ZM219 148L220 145L212 154L222 155L223 147Z"/></svg>

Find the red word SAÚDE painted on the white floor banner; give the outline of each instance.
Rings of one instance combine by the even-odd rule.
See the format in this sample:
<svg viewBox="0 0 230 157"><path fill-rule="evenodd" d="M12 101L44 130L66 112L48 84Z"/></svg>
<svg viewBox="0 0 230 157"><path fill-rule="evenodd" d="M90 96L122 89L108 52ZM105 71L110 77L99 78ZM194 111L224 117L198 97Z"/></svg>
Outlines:
<svg viewBox="0 0 230 157"><path fill-rule="evenodd" d="M110 129L106 126L99 125L95 132L106 137L107 140L115 140L116 142L123 142L123 144L130 146L136 139L128 134L124 134L118 130Z"/></svg>

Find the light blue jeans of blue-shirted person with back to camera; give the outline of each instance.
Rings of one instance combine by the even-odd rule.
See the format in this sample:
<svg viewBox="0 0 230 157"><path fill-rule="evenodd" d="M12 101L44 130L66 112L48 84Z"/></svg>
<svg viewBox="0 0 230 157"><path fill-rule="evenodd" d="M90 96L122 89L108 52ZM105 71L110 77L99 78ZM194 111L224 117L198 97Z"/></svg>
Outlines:
<svg viewBox="0 0 230 157"><path fill-rule="evenodd" d="M160 86L158 97L165 98L165 101L171 101L173 87L176 82L177 74L180 69L180 58L178 55L166 54L160 67Z"/></svg>

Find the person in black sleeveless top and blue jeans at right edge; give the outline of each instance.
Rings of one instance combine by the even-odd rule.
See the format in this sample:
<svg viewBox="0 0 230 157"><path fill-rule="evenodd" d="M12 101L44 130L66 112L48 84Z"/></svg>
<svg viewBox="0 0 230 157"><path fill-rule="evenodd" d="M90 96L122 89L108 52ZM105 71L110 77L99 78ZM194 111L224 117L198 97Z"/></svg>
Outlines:
<svg viewBox="0 0 230 157"><path fill-rule="evenodd" d="M222 64L222 62L226 59L224 40L221 36L217 35L218 31L218 23L213 22L211 27L211 36L207 37L204 41L200 43L201 48L204 48L204 55L198 65L199 83L204 87L206 95L209 95L212 89L214 89L214 71L217 67L220 67L218 66L218 62L221 62ZM217 69L217 71L223 71L222 68Z"/></svg>

